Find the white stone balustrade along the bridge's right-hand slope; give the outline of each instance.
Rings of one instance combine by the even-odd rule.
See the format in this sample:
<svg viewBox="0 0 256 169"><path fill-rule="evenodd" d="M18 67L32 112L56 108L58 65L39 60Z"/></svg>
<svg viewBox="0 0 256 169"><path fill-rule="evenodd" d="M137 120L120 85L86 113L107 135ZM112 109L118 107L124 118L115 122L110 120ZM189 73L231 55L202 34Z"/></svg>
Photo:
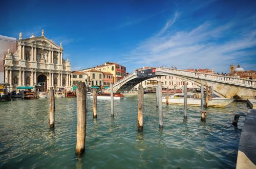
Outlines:
<svg viewBox="0 0 256 169"><path fill-rule="evenodd" d="M208 80L214 80L214 81L219 81L219 82L224 82L224 83L233 83L233 84L239 84L239 85L248 86L248 87L256 87L256 81L250 80L250 79L235 78L235 77L206 74L206 73L198 73L195 71L187 71L187 70L166 68L166 67L157 67L156 70L172 72L173 74L176 74L176 75L183 75L183 76L200 78L200 79L208 79Z"/></svg>

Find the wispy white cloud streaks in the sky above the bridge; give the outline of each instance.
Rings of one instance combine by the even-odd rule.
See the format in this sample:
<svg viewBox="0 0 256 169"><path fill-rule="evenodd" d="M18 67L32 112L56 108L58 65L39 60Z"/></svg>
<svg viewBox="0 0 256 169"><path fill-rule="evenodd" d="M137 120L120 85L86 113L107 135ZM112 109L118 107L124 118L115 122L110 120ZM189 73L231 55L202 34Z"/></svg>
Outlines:
<svg viewBox="0 0 256 169"><path fill-rule="evenodd" d="M151 66L174 65L178 68L207 67L221 71L228 70L231 63L241 63L249 55L245 50L256 46L255 26L247 25L247 19L224 25L206 21L190 30L168 32L179 15L176 12L159 33L138 44L131 56L126 58L127 62ZM242 28L237 29L238 26ZM236 33L230 34L230 31Z"/></svg>

